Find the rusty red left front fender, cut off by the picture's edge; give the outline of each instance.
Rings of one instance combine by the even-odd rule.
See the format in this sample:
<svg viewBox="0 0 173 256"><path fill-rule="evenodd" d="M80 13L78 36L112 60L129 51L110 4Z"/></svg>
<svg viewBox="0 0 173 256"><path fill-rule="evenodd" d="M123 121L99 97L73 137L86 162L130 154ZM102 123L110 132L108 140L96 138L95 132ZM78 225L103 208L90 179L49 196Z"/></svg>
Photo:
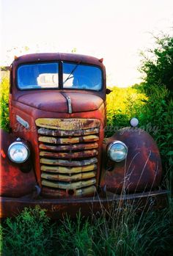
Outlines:
<svg viewBox="0 0 173 256"><path fill-rule="evenodd" d="M7 156L8 147L15 142L15 136L1 130L1 190L3 197L21 197L34 191L37 185L34 170L21 172L21 165L10 161Z"/></svg>

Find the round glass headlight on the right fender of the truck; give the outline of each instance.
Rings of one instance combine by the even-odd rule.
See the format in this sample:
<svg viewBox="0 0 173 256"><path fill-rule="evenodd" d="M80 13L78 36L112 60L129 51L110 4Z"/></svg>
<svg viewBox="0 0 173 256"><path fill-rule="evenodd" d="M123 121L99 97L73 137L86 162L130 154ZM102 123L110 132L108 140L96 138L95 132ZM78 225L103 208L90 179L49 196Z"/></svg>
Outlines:
<svg viewBox="0 0 173 256"><path fill-rule="evenodd" d="M128 153L128 147L123 142L112 142L108 146L108 156L112 161L120 162L124 160Z"/></svg>

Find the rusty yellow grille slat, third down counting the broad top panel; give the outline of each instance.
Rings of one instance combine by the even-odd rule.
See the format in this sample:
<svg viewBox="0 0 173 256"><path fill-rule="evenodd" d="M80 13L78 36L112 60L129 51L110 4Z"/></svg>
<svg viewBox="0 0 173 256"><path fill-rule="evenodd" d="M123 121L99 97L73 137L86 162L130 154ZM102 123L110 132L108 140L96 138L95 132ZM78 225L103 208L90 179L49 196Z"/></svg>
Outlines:
<svg viewBox="0 0 173 256"><path fill-rule="evenodd" d="M46 137L39 136L39 142L47 142L53 144L76 144L80 142L96 142L99 140L99 137L96 135L88 135L81 137L73 137L73 138L54 138L54 137Z"/></svg>

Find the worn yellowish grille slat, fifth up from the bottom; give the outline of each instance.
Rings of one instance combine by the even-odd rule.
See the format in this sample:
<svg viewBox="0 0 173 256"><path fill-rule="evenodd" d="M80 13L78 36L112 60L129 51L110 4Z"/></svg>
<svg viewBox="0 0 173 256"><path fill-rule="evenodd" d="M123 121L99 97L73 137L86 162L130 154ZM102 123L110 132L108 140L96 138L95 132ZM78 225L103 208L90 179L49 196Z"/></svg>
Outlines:
<svg viewBox="0 0 173 256"><path fill-rule="evenodd" d="M41 164L60 165L62 167L82 167L89 164L96 164L97 158L89 158L81 161L68 161L62 159L40 158Z"/></svg>

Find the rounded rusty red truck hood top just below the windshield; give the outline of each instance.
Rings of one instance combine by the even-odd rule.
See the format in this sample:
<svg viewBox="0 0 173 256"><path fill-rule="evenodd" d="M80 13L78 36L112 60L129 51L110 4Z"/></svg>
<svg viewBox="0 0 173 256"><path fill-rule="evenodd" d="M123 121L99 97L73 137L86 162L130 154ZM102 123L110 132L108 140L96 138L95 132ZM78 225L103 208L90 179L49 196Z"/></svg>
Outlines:
<svg viewBox="0 0 173 256"><path fill-rule="evenodd" d="M99 109L103 99L97 95L81 92L39 91L28 92L18 97L17 101L36 109L68 113L67 98L70 98L72 112L94 111Z"/></svg>

